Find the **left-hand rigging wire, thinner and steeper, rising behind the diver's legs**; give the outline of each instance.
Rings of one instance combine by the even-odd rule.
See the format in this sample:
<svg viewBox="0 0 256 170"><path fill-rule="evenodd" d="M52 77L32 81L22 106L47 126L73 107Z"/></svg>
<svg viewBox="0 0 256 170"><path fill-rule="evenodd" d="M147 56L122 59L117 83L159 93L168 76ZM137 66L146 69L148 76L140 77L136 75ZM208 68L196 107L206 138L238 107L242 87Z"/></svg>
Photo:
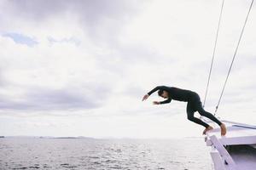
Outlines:
<svg viewBox="0 0 256 170"><path fill-rule="evenodd" d="M220 21L221 21L221 18L222 18L223 7L224 7L224 0L222 1L221 10L220 10L220 14L219 14L219 17L218 17L218 28L217 28L215 42L214 42L214 48L213 48L213 52L212 52L212 62L211 62L211 67L210 67L210 71L209 71L209 75L208 75L207 89L206 89L206 93L205 93L205 99L204 99L204 102L203 102L203 107L205 107L206 101L207 101L207 93L208 93L209 83L210 83L210 79L211 79L211 75L212 75L212 65L213 65L213 60L214 60L214 57L215 57L215 51L216 51L216 46L217 46L217 41L218 41L218 31L219 31Z"/></svg>

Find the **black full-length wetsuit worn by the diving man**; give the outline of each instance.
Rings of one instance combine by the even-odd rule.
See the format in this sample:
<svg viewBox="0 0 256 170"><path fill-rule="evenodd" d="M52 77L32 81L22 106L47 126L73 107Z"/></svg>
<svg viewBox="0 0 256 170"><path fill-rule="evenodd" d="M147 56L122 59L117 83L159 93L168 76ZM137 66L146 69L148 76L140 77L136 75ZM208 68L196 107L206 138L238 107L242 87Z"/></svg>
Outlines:
<svg viewBox="0 0 256 170"><path fill-rule="evenodd" d="M148 95L153 94L157 90L165 90L168 92L168 99L161 101L160 104L167 104L174 100L188 102L187 104L187 116L189 121L201 124L204 127L209 127L206 122L202 122L201 119L194 116L195 111L198 111L201 116L206 116L211 119L213 122L218 123L221 125L221 122L213 116L211 113L205 111L201 105L201 99L198 94L193 91L185 90L181 88L174 88L174 87L167 87L167 86L157 86L156 88L152 89L148 92Z"/></svg>

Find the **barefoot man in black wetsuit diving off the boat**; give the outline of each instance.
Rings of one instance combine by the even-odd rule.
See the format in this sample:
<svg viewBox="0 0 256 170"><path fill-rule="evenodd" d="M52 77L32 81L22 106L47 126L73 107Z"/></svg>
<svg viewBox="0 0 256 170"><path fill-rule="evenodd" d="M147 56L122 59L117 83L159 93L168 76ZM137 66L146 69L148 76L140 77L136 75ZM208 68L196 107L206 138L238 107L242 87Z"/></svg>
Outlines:
<svg viewBox="0 0 256 170"><path fill-rule="evenodd" d="M148 99L150 94L153 94L158 90L158 94L160 97L165 98L164 101L154 101L154 105L161 105L167 104L174 100L188 102L187 105L187 116L189 121L195 122L200 124L206 129L203 131L203 134L206 134L207 131L212 130L213 127L209 126L206 122L202 122L201 119L194 116L195 111L198 111L201 116L206 116L211 119L213 122L218 123L221 129L221 135L225 135L226 127L224 123L218 121L218 119L213 116L211 113L205 111L201 105L201 99L198 94L193 91L185 90L181 88L174 88L174 87L167 87L167 86L157 86L156 88L152 89L148 94L143 96L143 100Z"/></svg>

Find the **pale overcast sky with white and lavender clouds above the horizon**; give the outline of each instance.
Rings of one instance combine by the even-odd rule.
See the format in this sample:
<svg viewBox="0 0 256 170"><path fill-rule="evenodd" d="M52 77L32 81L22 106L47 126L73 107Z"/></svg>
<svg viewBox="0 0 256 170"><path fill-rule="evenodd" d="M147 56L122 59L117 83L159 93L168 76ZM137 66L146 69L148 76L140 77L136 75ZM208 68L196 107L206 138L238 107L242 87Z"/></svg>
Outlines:
<svg viewBox="0 0 256 170"><path fill-rule="evenodd" d="M186 103L159 85L204 98L221 0L0 1L0 135L201 137ZM214 112L250 0L226 0L205 109ZM253 5L221 120L256 125ZM195 116L200 116L195 113Z"/></svg>

